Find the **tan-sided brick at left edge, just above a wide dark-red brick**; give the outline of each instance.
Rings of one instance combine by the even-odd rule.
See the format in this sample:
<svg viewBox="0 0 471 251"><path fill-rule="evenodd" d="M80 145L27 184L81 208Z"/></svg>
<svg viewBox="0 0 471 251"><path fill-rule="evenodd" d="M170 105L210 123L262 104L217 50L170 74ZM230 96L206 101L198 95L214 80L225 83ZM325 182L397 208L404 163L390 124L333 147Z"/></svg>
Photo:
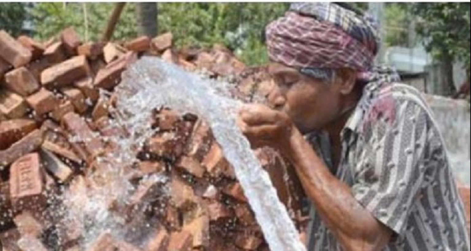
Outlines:
<svg viewBox="0 0 471 251"><path fill-rule="evenodd" d="M20 95L0 89L0 113L7 118L22 118L28 104Z"/></svg>

